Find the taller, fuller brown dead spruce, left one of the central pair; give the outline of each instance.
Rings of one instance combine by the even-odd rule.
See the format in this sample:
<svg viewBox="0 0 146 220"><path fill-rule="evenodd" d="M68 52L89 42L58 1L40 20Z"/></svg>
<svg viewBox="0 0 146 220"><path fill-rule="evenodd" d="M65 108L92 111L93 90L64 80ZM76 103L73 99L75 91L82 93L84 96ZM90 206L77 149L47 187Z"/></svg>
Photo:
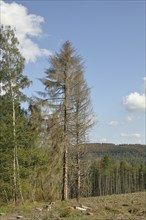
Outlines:
<svg viewBox="0 0 146 220"><path fill-rule="evenodd" d="M67 200L69 191L68 150L74 143L76 143L76 146L78 146L81 142L83 143L81 140L83 139L83 136L85 137L86 132L84 131L87 131L87 127L90 127L88 124L86 128L83 128L82 123L82 120L85 120L84 117L87 118L87 121L90 121L89 115L84 113L88 101L85 104L85 102L81 101L77 96L83 95L84 99L88 100L89 91L83 78L82 61L69 41L66 41L63 44L60 53L56 53L50 57L49 64L50 67L46 70L46 77L41 79L45 86L45 92L40 92L39 94L43 96L42 103L44 105L46 103L50 109L49 118L52 117L53 121L53 125L51 123L50 134L56 134L51 135L53 137L52 143L56 143L56 140L58 140L56 145L58 145L61 149L61 197L62 200ZM83 92L83 89L86 91ZM78 102L77 99L80 101ZM80 105L79 108L78 105ZM82 119L81 117L79 119L79 115L81 114L83 114L83 117ZM55 115L55 117L53 117L53 115ZM78 126L81 128L80 130L78 129ZM78 129L77 132L76 129ZM59 131L59 134L56 131ZM80 138L78 137L79 135ZM79 176L80 174L78 171L78 177Z"/></svg>

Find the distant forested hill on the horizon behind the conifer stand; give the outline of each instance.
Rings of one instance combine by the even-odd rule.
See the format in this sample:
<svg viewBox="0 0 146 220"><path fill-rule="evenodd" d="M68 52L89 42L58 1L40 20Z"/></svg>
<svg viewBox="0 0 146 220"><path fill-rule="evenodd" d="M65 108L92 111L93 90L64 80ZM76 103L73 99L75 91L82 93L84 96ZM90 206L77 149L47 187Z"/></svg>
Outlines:
<svg viewBox="0 0 146 220"><path fill-rule="evenodd" d="M108 144L89 143L82 149L86 159L96 159L97 157L109 156L113 159L127 160L132 163L146 164L146 145L140 144Z"/></svg>

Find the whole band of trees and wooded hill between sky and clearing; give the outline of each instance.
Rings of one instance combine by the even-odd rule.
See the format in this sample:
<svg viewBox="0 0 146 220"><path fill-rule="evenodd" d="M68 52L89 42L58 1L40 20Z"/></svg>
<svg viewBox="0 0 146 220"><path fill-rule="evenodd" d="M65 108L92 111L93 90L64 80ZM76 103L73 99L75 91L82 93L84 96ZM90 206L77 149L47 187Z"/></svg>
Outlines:
<svg viewBox="0 0 146 220"><path fill-rule="evenodd" d="M94 110L72 43L49 57L34 97L24 92L31 81L18 48L15 30L1 26L0 204L144 191L144 145L90 143Z"/></svg>

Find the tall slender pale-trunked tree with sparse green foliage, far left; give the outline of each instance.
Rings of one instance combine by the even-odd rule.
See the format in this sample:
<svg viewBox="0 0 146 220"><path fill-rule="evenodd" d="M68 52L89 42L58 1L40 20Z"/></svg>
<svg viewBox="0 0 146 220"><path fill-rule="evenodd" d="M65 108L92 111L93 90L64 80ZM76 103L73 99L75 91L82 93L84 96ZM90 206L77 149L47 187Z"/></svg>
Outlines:
<svg viewBox="0 0 146 220"><path fill-rule="evenodd" d="M17 152L17 137L16 137L16 103L26 100L26 96L22 93L22 89L29 86L30 82L26 76L22 74L24 69L24 58L18 49L19 42L15 36L15 31L10 26L0 27L0 83L1 96L7 94L11 103L12 127L13 127L13 191L14 201L17 201L17 185L19 193L23 201L19 162Z"/></svg>

